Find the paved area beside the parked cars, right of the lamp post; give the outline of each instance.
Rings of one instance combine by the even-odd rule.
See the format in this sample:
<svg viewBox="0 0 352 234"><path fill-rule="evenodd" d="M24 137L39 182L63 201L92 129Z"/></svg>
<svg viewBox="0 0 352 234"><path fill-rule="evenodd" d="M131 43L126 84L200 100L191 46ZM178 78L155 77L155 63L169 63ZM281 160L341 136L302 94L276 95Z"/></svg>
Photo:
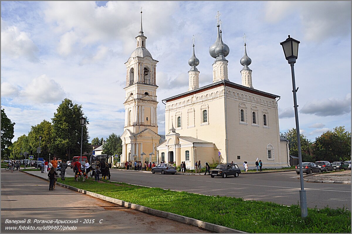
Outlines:
<svg viewBox="0 0 352 234"><path fill-rule="evenodd" d="M351 170L304 175L303 180L314 183L351 184Z"/></svg>

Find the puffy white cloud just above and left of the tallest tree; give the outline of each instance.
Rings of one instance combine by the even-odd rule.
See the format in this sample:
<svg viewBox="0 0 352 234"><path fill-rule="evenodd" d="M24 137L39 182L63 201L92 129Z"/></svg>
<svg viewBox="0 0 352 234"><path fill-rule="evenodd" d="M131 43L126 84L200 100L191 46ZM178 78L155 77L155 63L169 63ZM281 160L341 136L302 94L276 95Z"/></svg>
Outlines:
<svg viewBox="0 0 352 234"><path fill-rule="evenodd" d="M45 74L34 78L21 93L26 100L34 103L59 102L65 96L63 88Z"/></svg>

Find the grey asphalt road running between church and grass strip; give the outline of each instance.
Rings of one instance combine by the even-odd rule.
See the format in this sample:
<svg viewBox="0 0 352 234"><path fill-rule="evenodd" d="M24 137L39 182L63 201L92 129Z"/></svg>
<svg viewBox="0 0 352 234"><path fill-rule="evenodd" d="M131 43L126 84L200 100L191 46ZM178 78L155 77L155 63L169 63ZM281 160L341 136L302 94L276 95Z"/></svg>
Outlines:
<svg viewBox="0 0 352 234"><path fill-rule="evenodd" d="M204 175L161 175L111 170L111 181L187 191L211 196L243 197L278 204L299 203L300 180L296 172L240 174L235 178ZM298 178L298 179L297 179ZM351 185L304 182L309 208L351 208Z"/></svg>

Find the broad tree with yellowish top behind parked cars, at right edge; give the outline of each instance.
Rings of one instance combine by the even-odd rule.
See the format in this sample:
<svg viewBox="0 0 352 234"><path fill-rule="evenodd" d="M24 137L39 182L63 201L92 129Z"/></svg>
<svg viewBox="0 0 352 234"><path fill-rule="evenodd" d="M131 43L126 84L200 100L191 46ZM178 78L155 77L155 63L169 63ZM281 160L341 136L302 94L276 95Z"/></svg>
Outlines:
<svg viewBox="0 0 352 234"><path fill-rule="evenodd" d="M345 161L351 159L351 133L345 126L335 127L334 131L324 132L315 141L317 160Z"/></svg>

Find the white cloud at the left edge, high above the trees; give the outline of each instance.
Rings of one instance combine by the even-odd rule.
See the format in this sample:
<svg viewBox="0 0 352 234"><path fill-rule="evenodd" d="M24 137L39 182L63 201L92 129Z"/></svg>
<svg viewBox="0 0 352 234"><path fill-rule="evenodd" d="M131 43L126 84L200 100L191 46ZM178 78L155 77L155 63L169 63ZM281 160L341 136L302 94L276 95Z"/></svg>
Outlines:
<svg viewBox="0 0 352 234"><path fill-rule="evenodd" d="M1 18L1 57L3 57L4 53L4 55L11 58L24 57L31 62L37 63L39 62L38 51L29 33L20 31L16 26L6 27L6 23Z"/></svg>

